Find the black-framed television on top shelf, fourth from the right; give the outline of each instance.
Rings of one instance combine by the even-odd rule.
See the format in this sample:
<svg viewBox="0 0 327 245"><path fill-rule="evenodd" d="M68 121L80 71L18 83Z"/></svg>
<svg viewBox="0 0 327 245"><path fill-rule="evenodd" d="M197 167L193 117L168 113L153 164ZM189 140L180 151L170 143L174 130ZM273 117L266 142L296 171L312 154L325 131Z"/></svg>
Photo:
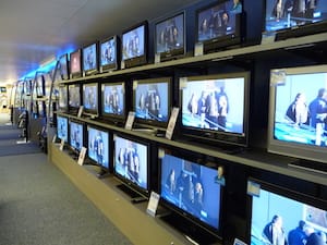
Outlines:
<svg viewBox="0 0 327 245"><path fill-rule="evenodd" d="M122 33L122 61L125 68L147 63L148 23L142 22Z"/></svg>

